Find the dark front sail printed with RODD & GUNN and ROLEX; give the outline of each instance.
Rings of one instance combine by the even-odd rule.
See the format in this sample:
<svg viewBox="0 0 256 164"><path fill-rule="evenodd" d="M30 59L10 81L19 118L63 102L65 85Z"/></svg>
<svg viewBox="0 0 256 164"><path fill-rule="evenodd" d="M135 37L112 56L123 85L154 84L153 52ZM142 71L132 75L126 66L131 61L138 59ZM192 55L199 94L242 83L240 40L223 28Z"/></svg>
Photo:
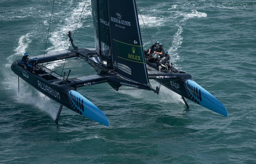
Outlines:
<svg viewBox="0 0 256 164"><path fill-rule="evenodd" d="M112 59L115 71L148 85L148 73L135 0L108 0Z"/></svg>

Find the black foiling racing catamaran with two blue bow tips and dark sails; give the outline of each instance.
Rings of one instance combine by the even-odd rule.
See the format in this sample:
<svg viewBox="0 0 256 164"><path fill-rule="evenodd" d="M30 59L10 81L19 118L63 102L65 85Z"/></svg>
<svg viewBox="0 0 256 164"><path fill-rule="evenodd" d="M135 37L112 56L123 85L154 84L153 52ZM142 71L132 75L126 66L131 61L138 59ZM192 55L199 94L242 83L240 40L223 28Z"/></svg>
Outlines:
<svg viewBox="0 0 256 164"><path fill-rule="evenodd" d="M68 37L72 50L63 50L46 55L34 56L38 63L49 63L61 59L80 58L97 72L76 78L67 78L43 66L35 74L21 66L21 60L12 64L12 71L44 95L62 106L109 126L106 115L92 102L81 95L77 88L107 82L113 89L124 85L159 93L159 87L152 88L149 79L154 79L166 88L214 112L228 117L225 106L212 94L193 81L190 74L175 69L158 70L153 60L146 59L140 34L135 0L92 0L92 17L95 49L78 48L73 43L71 31ZM129 9L129 10L124 10ZM30 60L32 58L30 57Z"/></svg>

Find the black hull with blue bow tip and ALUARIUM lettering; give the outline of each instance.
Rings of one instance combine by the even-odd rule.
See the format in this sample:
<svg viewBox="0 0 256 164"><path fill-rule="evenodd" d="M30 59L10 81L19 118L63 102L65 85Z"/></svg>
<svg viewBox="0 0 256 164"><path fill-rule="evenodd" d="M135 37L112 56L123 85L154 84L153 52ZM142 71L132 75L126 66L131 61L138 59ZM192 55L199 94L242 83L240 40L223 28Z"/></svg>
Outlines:
<svg viewBox="0 0 256 164"><path fill-rule="evenodd" d="M12 71L22 78L25 82L29 83L35 89L46 95L47 97L55 100L68 109L73 110L87 118L97 121L103 125L109 126L108 118L106 115L83 95L76 91L78 86L84 84L91 85L91 78L84 83L79 79L69 79L68 81L61 81L51 73L47 73L42 70L35 71L36 74L28 72L28 70L19 66L19 62L16 60L11 66ZM94 81L105 82L103 77L96 77ZM62 106L61 106L62 108ZM61 108L59 112L61 111ZM55 122L58 122L59 114L56 117Z"/></svg>

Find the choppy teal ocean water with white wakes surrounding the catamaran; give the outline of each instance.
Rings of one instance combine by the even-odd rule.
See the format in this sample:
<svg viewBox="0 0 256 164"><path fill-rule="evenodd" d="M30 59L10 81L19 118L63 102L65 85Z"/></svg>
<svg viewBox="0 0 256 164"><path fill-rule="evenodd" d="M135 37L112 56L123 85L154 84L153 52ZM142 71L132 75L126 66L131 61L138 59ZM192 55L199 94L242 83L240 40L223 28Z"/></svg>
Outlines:
<svg viewBox="0 0 256 164"><path fill-rule="evenodd" d="M0 163L256 163L256 1L137 0L143 45L159 41L174 66L188 72L227 108L229 117L163 86L115 91L106 84L79 88L108 117L110 127L47 98L11 71L24 52L44 54L52 0L0 1ZM56 0L46 52L68 49L85 0ZM148 29L147 30L144 26ZM74 36L93 48L91 2ZM49 66L61 71L64 62ZM93 72L69 60L71 76ZM151 81L152 86L159 84ZM125 88L125 87L122 87Z"/></svg>

